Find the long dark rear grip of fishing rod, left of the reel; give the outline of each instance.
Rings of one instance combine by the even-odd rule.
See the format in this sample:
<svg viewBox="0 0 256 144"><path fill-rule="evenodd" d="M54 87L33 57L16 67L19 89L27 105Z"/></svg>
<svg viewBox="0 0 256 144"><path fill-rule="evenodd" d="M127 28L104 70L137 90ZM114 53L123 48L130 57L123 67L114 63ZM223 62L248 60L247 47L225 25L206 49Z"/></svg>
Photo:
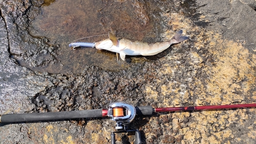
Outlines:
<svg viewBox="0 0 256 144"><path fill-rule="evenodd" d="M102 117L102 109L77 110L77 111L59 111L42 113L18 113L4 114L0 117L1 123L31 122L31 121L49 121L56 119L72 119Z"/></svg>

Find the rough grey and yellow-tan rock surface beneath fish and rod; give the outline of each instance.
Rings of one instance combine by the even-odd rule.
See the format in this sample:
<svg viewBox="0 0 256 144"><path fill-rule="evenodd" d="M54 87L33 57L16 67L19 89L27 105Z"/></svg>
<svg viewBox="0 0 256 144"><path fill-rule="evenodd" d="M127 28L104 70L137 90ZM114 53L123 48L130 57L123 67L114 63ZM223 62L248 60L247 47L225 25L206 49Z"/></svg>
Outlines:
<svg viewBox="0 0 256 144"><path fill-rule="evenodd" d="M255 103L255 1L131 1L135 16L126 14L128 9L121 13L131 22L125 29L135 28L132 21L137 20L136 30L154 32L135 39L167 40L183 29L189 40L156 56L130 57L130 64L119 68L112 64L113 53L78 50L86 60L86 53L105 60L79 63L77 54L60 53L72 51L61 50L63 37L32 31L42 9L58 2L0 1L0 114L99 109L118 101L153 107ZM102 3L118 8L129 4ZM97 12L104 17L108 9ZM111 25L124 30L111 19L101 22L109 23L101 23L103 30ZM77 60L73 67L63 62L63 55ZM255 143L255 112L251 108L154 114L136 117L131 128L141 131L142 143ZM0 126L1 143L109 143L115 123L84 118ZM117 134L116 140L133 143L134 136Z"/></svg>

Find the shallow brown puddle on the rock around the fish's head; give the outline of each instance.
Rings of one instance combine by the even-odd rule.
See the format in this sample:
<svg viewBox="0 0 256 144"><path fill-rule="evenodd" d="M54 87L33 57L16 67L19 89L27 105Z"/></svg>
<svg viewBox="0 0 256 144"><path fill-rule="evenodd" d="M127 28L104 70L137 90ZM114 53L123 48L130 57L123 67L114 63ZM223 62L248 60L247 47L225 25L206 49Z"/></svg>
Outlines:
<svg viewBox="0 0 256 144"><path fill-rule="evenodd" d="M97 42L108 38L110 30L116 31L117 37L159 41L157 35L161 31L156 28L157 22L152 18L150 20L150 12L147 12L147 9L159 11L155 5L132 1L56 0L48 6L41 7L41 13L32 21L29 31L33 36L49 38L49 44L59 45L55 53L56 59L63 65L63 70L60 71L81 73L87 65L120 70L129 67L129 64L118 64L115 53L98 51L90 47L72 50L68 46L69 43L88 36L95 37L79 41ZM139 59L142 63L145 61L144 58Z"/></svg>

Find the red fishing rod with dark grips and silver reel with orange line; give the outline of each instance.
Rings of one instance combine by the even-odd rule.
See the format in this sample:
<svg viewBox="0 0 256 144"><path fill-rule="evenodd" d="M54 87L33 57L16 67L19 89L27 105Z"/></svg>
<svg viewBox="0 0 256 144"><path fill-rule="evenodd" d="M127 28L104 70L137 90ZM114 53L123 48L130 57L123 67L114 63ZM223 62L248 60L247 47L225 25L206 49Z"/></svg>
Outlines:
<svg viewBox="0 0 256 144"><path fill-rule="evenodd" d="M135 142L141 143L140 132L138 129L129 129L129 124L133 121L135 115L152 115L153 112L172 112L172 111L194 111L194 110L212 110L212 109L230 109L230 108L252 108L256 104L236 104L236 105L214 105L214 106L187 106L187 107L166 107L154 108L152 106L139 106L117 102L109 105L109 109L92 109L78 111L60 111L43 113L18 113L0 115L0 123L49 121L57 119L90 118L109 116L116 122L116 131L111 133L111 143L115 143L115 133L135 132Z"/></svg>

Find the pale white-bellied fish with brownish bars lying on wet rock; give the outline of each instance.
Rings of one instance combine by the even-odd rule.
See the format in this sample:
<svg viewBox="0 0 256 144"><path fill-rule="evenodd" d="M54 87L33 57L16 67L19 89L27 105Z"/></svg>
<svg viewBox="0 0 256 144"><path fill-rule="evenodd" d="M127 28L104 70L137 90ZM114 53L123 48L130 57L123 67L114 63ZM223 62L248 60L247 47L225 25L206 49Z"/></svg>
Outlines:
<svg viewBox="0 0 256 144"><path fill-rule="evenodd" d="M153 56L166 50L170 45L187 40L187 36L182 36L183 31L178 31L169 41L147 43L140 41L131 41L129 39L118 39L113 32L109 32L109 38L95 42L97 50L106 50L116 53L125 61L125 56Z"/></svg>

